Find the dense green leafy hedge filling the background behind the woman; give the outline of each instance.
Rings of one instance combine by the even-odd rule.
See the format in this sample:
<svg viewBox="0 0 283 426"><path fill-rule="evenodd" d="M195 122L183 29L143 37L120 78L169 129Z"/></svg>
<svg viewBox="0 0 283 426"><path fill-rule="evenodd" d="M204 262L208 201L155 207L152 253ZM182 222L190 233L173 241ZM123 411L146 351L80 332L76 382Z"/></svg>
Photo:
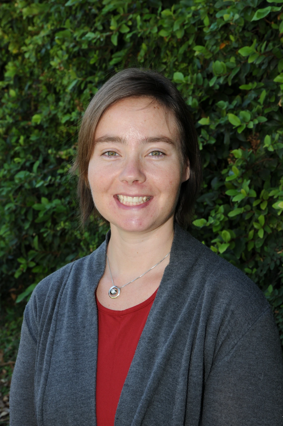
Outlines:
<svg viewBox="0 0 283 426"><path fill-rule="evenodd" d="M40 279L104 239L104 226L78 227L67 173L78 123L110 75L143 66L176 83L199 132L191 232L262 288L281 332L282 2L0 4L2 300L24 306Z"/></svg>

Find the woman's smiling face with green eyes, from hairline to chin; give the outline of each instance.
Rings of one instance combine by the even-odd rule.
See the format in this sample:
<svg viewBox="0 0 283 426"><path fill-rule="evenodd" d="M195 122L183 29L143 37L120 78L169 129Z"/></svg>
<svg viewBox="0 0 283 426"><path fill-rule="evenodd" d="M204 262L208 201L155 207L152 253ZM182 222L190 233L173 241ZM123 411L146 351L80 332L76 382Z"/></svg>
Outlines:
<svg viewBox="0 0 283 426"><path fill-rule="evenodd" d="M174 215L183 165L173 115L149 98L118 101L102 116L88 178L95 207L111 225L145 232Z"/></svg>

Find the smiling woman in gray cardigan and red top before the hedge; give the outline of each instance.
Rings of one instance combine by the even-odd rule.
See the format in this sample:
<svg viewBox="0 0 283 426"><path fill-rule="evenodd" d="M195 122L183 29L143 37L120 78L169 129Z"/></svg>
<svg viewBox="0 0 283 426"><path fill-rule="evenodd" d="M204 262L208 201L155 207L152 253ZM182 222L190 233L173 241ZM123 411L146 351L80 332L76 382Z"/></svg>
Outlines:
<svg viewBox="0 0 283 426"><path fill-rule="evenodd" d="M79 133L81 215L110 223L29 300L11 426L282 425L282 357L257 286L182 229L196 132L162 75L119 72Z"/></svg>

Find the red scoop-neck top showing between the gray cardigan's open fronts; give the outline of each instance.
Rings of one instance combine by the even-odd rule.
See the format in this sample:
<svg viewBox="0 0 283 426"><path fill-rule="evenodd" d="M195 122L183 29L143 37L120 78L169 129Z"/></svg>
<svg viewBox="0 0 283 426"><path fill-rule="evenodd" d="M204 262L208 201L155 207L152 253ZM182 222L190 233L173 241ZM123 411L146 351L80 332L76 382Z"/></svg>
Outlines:
<svg viewBox="0 0 283 426"><path fill-rule="evenodd" d="M149 299L113 311L98 307L98 355L96 373L97 426L113 426L120 394L157 290Z"/></svg>

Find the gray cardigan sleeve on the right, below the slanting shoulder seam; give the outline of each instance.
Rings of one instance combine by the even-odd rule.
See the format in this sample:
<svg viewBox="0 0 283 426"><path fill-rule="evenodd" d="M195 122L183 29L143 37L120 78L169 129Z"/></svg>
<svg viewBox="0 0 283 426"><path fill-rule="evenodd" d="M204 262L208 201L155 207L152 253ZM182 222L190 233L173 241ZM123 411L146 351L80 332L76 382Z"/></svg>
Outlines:
<svg viewBox="0 0 283 426"><path fill-rule="evenodd" d="M224 357L216 356L205 383L201 425L283 425L282 354L270 308Z"/></svg>

